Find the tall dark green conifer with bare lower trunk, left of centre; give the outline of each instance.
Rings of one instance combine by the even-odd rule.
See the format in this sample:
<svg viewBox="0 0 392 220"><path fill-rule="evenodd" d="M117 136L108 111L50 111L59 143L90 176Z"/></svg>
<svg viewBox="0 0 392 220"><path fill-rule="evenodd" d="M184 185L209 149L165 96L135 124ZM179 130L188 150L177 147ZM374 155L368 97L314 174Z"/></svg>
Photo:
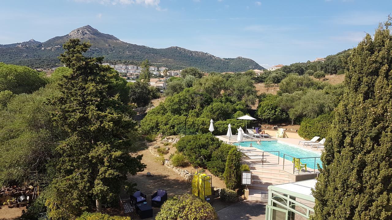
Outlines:
<svg viewBox="0 0 392 220"><path fill-rule="evenodd" d="M82 55L90 46L70 39L59 57L72 73L58 83L61 96L50 101L56 106L55 124L69 135L56 149L60 159L47 200L54 219L80 215L93 199L100 212L102 202L117 197L122 186L132 186L127 175L145 167L141 156L129 154L136 122L120 92L113 92L119 76L100 65L102 57Z"/></svg>

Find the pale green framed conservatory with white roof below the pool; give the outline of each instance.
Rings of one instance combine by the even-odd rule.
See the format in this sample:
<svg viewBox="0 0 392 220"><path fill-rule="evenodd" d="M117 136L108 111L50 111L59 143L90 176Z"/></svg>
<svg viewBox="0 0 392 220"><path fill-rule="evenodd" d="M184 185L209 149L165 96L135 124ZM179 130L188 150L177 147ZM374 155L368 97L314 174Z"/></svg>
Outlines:
<svg viewBox="0 0 392 220"><path fill-rule="evenodd" d="M266 220L306 220L314 213L311 189L316 179L268 187Z"/></svg>

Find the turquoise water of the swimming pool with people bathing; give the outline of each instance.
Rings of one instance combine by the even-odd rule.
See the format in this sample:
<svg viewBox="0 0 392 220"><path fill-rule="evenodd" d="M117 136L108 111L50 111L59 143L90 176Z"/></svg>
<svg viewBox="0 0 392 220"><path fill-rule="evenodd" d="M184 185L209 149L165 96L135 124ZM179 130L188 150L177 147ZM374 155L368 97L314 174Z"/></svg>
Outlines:
<svg viewBox="0 0 392 220"><path fill-rule="evenodd" d="M238 146L238 143L233 143L234 145ZM321 153L317 153L314 151L310 151L301 147L297 147L294 145L290 144L285 144L282 142L278 141L261 141L260 144L257 144L256 141L245 141L241 142L241 146L244 147L249 147L250 144L252 144L252 147L258 148L262 151L279 151L279 157L283 158L283 154L288 154L292 157L296 158L303 158L303 157L320 157ZM276 156L278 156L278 152L271 153ZM287 157L285 156L285 159L287 160L292 160L292 157ZM314 169L314 158L310 159L301 159L301 162L303 164L307 164L306 166L309 168ZM317 169L317 164L320 164L321 166L321 160L320 158L316 158L316 169ZM322 166L321 166L322 167Z"/></svg>

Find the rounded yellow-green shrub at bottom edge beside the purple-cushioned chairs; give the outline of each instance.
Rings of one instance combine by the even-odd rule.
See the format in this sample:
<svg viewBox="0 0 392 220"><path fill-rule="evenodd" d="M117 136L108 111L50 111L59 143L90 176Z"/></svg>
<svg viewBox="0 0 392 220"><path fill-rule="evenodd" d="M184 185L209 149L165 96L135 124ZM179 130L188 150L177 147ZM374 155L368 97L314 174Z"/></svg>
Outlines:
<svg viewBox="0 0 392 220"><path fill-rule="evenodd" d="M215 209L191 194L175 195L163 203L156 220L218 220Z"/></svg>

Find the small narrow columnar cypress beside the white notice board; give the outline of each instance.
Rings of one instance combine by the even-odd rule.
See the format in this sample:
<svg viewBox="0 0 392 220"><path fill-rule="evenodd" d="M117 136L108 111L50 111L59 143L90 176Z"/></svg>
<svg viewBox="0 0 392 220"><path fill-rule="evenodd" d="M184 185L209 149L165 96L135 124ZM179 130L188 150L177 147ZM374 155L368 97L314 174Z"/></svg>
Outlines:
<svg viewBox="0 0 392 220"><path fill-rule="evenodd" d="M241 158L243 154L236 148L232 148L227 155L226 168L223 176L228 189L238 189L241 187Z"/></svg>

